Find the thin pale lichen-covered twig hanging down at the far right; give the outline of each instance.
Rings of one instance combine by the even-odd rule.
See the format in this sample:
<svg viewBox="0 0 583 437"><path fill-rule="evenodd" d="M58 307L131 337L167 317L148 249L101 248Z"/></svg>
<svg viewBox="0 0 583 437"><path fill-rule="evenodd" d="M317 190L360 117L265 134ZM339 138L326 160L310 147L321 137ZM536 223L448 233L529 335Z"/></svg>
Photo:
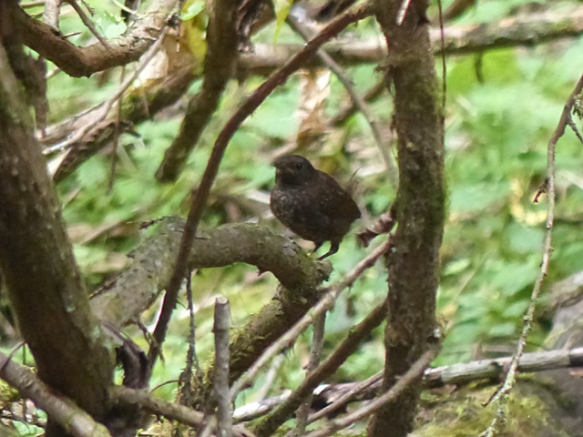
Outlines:
<svg viewBox="0 0 583 437"><path fill-rule="evenodd" d="M553 135L548 140L547 145L547 198L548 198L548 207L547 207L547 235L545 237L545 243L543 248L543 256L542 262L540 265L540 272L538 274L537 282L532 290L532 294L530 296L530 303L528 304L527 313L524 317L524 326L522 328L522 332L518 339L518 346L517 351L512 358L512 362L508 367L508 371L506 373L506 377L502 384L498 387L498 390L494 393L494 395L490 398L486 404L490 404L492 402L498 402L498 409L496 412L496 416L494 420L490 423L490 426L483 432L481 435L490 437L496 434L496 429L498 422L504 420L504 403L506 401L507 395L510 390L514 387L514 383L517 377L517 367L520 358L524 352L525 346L527 344L527 337L530 329L532 328L532 322L535 314L535 310L537 309L537 301L538 295L540 293L540 288L542 286L543 280L547 276L548 264L550 261L550 256L552 252L552 230L553 230L553 221L555 217L555 148L557 146L557 142L560 137L565 134L565 129L568 126L568 120L571 117L571 109L575 104L575 98L583 89L583 76L579 77L577 86L568 97L567 103L565 103L565 107L563 107L563 112L561 113L561 117L558 121L557 128L553 132Z"/></svg>

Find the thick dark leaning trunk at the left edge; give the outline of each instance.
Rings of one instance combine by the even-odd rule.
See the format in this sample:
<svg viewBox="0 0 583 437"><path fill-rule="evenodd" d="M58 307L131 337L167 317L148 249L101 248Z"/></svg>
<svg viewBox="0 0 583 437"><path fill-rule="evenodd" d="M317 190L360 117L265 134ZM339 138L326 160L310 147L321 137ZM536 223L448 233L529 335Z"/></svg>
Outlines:
<svg viewBox="0 0 583 437"><path fill-rule="evenodd" d="M89 309L20 92L30 93L34 72L15 25L17 11L14 0L0 4L0 268L40 378L103 422L113 354ZM66 435L48 419L48 437Z"/></svg>

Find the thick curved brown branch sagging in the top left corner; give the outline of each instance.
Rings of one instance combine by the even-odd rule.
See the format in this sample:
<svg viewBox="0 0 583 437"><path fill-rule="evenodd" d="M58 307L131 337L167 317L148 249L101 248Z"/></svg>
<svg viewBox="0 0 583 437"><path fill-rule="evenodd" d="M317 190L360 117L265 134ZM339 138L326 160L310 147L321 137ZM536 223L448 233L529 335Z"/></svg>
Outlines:
<svg viewBox="0 0 583 437"><path fill-rule="evenodd" d="M87 47L75 46L56 33L52 26L26 15L22 9L18 9L15 18L22 28L26 46L53 62L67 75L81 77L137 61L159 36L176 3L176 0L153 2L125 35L108 40L107 46L100 42Z"/></svg>

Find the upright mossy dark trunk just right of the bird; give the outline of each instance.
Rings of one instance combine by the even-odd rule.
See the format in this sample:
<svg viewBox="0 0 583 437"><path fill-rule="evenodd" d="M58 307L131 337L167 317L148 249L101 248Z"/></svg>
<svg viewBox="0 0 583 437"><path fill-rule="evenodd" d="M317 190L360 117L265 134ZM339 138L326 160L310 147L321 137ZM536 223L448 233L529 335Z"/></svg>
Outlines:
<svg viewBox="0 0 583 437"><path fill-rule="evenodd" d="M435 341L435 292L445 220L443 114L425 25L426 2L411 2L403 24L397 25L403 3L376 2L376 17L389 46L384 77L387 87L394 89L399 165L394 205L398 228L386 260L390 291L384 390ZM410 432L421 388L417 381L385 406L371 423L369 435L397 437Z"/></svg>

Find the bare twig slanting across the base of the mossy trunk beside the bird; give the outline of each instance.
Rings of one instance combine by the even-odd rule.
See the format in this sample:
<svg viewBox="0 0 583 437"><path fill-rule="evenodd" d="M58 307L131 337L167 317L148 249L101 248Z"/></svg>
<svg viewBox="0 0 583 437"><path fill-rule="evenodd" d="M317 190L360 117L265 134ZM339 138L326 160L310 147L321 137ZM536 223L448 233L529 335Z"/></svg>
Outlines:
<svg viewBox="0 0 583 437"><path fill-rule="evenodd" d="M389 391L386 391L382 396L379 396L374 401L371 401L363 408L356 410L342 419L338 419L335 421L328 422L328 425L316 432L308 432L304 435L304 437L327 437L332 435L334 432L338 430L343 430L344 428L349 427L354 422L358 422L363 420L366 417L370 417L373 415L374 412L377 412L380 408L382 408L386 403L390 401L394 401L394 399L406 389L409 385L411 385L414 381L418 380L422 377L424 370L431 364L431 361L435 360L435 357L441 350L441 344L435 344L431 347L428 351L419 358L419 360L415 361L411 368L404 373L403 376L399 378L398 381L394 384L393 387Z"/></svg>

